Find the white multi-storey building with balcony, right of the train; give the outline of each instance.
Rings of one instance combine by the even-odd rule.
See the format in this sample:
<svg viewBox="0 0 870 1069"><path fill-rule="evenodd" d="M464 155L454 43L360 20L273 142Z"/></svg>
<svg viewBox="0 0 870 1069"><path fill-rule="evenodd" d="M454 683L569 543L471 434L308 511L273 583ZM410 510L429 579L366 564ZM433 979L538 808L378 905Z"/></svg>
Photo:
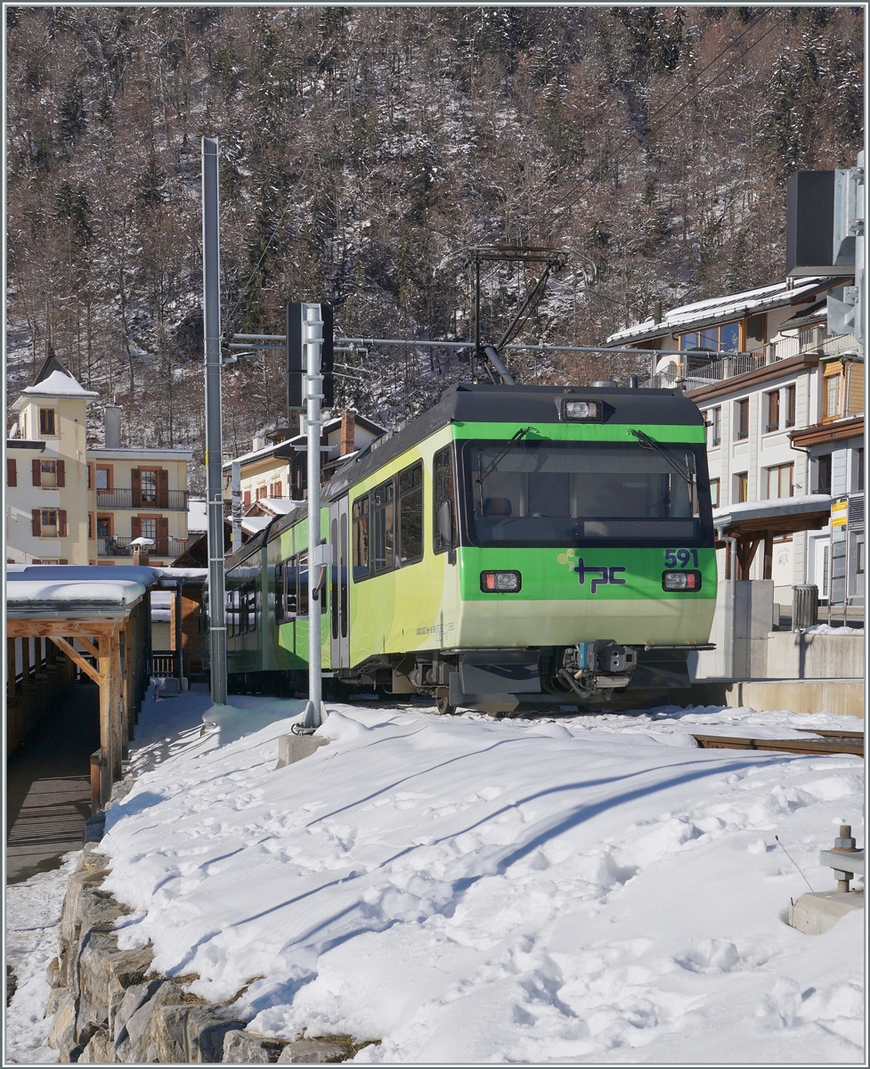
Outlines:
<svg viewBox="0 0 870 1069"><path fill-rule="evenodd" d="M646 385L678 386L703 413L717 531L736 539L737 577L772 579L783 606L805 583L823 603L864 604L864 357L854 336L827 329L842 282L698 301L607 339L677 351L652 355Z"/></svg>

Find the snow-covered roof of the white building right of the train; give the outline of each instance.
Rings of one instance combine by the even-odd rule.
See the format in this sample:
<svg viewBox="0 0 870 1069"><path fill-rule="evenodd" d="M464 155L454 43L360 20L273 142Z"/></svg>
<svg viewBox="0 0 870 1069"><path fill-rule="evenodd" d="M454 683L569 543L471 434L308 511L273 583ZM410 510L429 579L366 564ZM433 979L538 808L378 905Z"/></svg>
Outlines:
<svg viewBox="0 0 870 1069"><path fill-rule="evenodd" d="M642 323L635 323L623 330L617 330L616 334L610 335L605 345L623 345L626 342L646 341L663 335L682 334L693 328L699 329L715 323L740 320L745 315L792 305L802 297L811 296L830 284L836 284L836 279L825 278L804 278L794 281L789 279L783 282L774 282L772 285L762 285L757 290L745 290L742 293L696 300L690 305L670 309L658 323L650 316ZM842 284L842 280L840 280L840 284Z"/></svg>

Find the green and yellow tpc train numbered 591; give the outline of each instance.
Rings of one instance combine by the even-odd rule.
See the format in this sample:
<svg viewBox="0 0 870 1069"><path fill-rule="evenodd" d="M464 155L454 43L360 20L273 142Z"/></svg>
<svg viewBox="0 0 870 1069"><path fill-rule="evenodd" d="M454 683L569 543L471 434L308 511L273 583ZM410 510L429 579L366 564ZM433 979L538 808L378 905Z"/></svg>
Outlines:
<svg viewBox="0 0 870 1069"><path fill-rule="evenodd" d="M511 712L688 686L716 598L704 428L679 391L459 385L227 566L230 686ZM329 693L327 691L327 693Z"/></svg>

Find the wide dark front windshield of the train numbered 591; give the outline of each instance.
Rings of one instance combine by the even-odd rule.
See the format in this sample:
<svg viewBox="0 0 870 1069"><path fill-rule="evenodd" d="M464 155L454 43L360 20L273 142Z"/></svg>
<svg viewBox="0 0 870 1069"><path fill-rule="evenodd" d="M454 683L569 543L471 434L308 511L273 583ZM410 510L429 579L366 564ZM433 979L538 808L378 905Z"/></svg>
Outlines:
<svg viewBox="0 0 870 1069"><path fill-rule="evenodd" d="M461 455L473 545L712 544L702 446L467 441Z"/></svg>

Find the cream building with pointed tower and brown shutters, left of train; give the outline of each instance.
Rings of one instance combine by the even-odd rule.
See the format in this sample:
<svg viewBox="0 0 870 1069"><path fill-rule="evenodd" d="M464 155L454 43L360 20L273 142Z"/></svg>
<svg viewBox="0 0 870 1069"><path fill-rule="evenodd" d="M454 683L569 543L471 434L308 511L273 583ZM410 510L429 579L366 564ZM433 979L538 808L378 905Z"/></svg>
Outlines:
<svg viewBox="0 0 870 1069"><path fill-rule="evenodd" d="M147 539L155 564L187 547L186 449L122 446L122 412L106 406L105 445L88 439L86 390L55 356L13 404L6 438L6 561L129 563Z"/></svg>

